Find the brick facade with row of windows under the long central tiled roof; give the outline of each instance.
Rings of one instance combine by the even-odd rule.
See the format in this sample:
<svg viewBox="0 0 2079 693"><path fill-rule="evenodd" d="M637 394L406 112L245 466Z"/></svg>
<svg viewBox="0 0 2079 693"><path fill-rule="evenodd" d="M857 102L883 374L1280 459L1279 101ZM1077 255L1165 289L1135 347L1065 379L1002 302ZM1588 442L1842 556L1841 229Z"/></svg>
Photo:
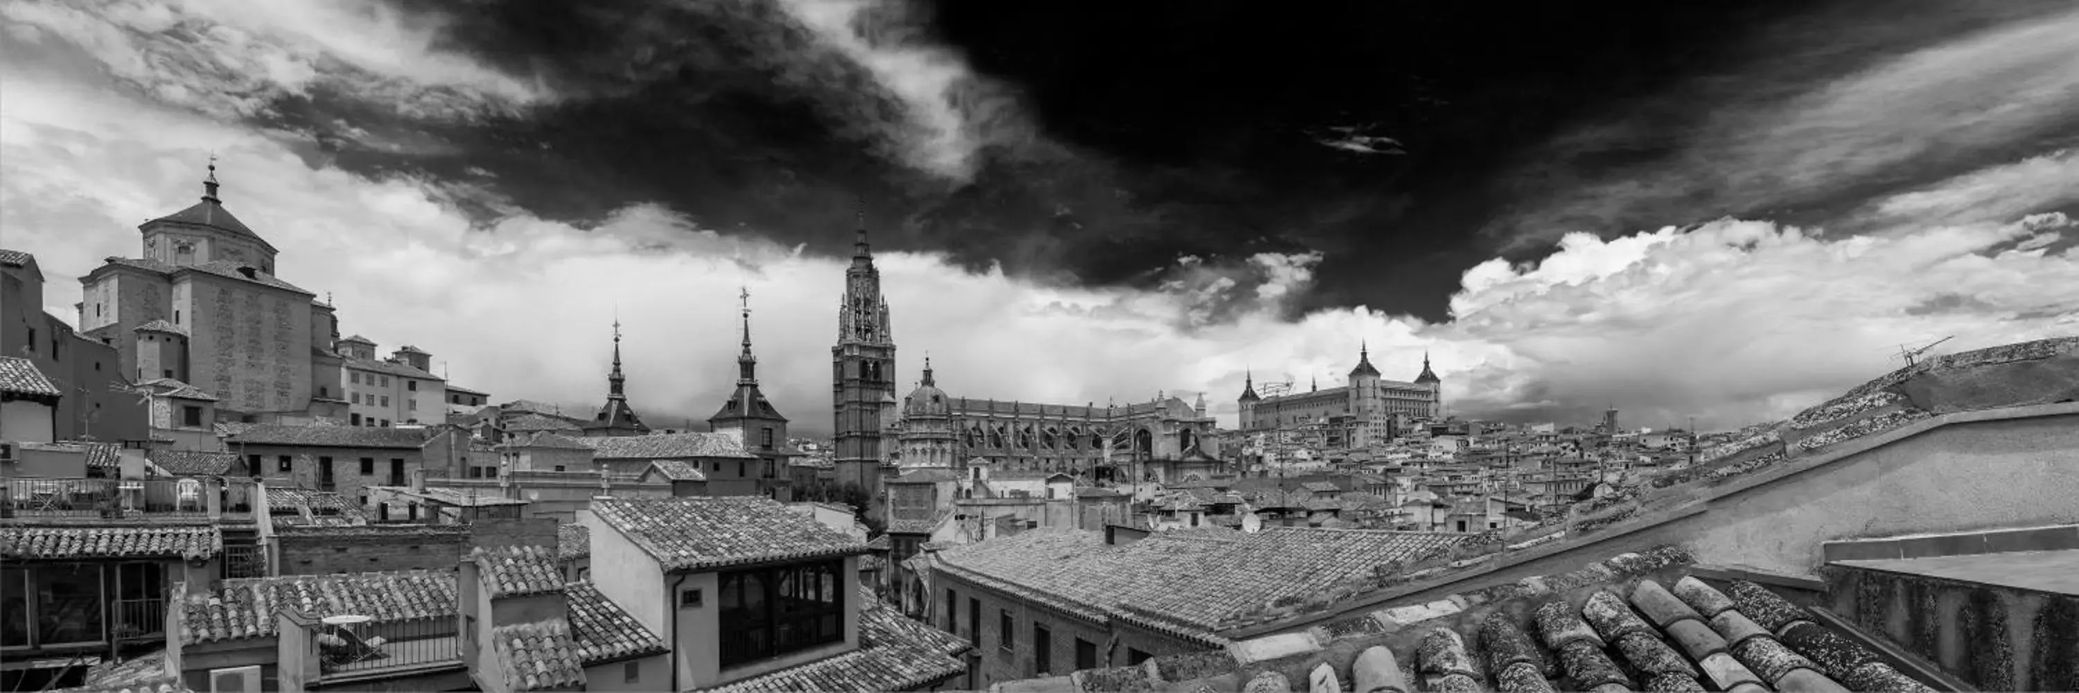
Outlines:
<svg viewBox="0 0 2079 693"><path fill-rule="evenodd" d="M1002 681L1023 681L1037 676L1037 662L1033 658L1033 624L1048 631L1048 653L1052 674L1067 674L1077 670L1075 649L1077 639L1091 643L1096 647L1096 666L1125 666L1127 651L1139 649L1150 656L1166 656L1181 651L1208 649L1204 645L1185 643L1175 637L1166 637L1152 631L1139 628L1112 628L1110 624L1094 624L1089 620L1069 616L1064 612L1052 610L1029 599L1015 599L994 589L975 587L958 576L940 572L933 581L931 614L933 626L946 628L946 591L952 589L958 601L958 614L952 622L952 631L960 637L969 635L969 599L977 599L981 606L981 639L975 645L975 689L985 689ZM1010 612L1010 649L1004 649L1002 641L1002 614ZM1106 651L1106 643L1112 641L1114 633L1119 643L1112 651Z"/></svg>

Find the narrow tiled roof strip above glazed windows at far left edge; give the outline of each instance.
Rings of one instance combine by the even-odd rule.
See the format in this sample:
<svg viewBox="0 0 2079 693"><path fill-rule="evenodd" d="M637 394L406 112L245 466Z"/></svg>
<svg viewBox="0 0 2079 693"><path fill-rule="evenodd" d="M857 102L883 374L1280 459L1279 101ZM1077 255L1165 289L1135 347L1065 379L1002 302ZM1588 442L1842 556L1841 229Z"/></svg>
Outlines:
<svg viewBox="0 0 2079 693"><path fill-rule="evenodd" d="M212 524L10 527L0 533L0 558L6 560L200 560L222 549L225 533Z"/></svg>

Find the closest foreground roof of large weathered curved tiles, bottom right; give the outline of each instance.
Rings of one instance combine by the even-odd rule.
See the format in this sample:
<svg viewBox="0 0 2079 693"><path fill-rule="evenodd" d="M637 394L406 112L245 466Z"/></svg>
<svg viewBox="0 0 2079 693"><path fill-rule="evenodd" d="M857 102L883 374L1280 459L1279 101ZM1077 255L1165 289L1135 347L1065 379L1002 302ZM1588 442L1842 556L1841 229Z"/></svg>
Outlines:
<svg viewBox="0 0 2079 693"><path fill-rule="evenodd" d="M1212 689L1353 681L1358 691L1929 691L1744 581L1719 591L1680 547L1264 635L1152 666L1075 672L1083 689L1148 676Z"/></svg>

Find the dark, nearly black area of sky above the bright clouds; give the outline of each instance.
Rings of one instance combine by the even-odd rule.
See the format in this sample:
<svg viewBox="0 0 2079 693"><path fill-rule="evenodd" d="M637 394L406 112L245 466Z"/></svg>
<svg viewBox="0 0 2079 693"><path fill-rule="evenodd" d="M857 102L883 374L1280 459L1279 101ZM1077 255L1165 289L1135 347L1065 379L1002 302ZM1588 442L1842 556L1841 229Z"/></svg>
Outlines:
<svg viewBox="0 0 2079 693"><path fill-rule="evenodd" d="M881 248L969 268L1150 285L1179 256L1320 250L1295 310L1441 318L1457 275L1491 256L1474 231L1511 194L1486 183L1495 171L1796 6L1534 4L1495 21L1476 4L879 4L900 12L857 19L871 40L950 46L1004 92L973 100L1031 121L1033 137L946 179L890 150L896 94L775 2L407 2L447 21L443 48L557 100L424 121L314 94L270 125L347 171L482 185L503 202L472 206L484 223L518 208L588 225L663 202L836 254L865 196Z"/></svg>

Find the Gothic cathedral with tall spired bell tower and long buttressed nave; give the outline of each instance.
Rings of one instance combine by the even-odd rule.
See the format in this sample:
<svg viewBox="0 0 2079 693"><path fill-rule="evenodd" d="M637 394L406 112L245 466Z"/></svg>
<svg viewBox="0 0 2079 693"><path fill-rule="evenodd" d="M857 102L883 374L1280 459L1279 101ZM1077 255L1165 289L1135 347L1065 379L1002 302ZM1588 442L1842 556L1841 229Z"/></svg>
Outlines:
<svg viewBox="0 0 2079 693"><path fill-rule="evenodd" d="M1206 402L1040 404L952 397L925 360L896 400L896 343L879 271L859 225L832 348L838 481L873 487L886 466L1069 472L1091 481L1183 477L1218 466Z"/></svg>

